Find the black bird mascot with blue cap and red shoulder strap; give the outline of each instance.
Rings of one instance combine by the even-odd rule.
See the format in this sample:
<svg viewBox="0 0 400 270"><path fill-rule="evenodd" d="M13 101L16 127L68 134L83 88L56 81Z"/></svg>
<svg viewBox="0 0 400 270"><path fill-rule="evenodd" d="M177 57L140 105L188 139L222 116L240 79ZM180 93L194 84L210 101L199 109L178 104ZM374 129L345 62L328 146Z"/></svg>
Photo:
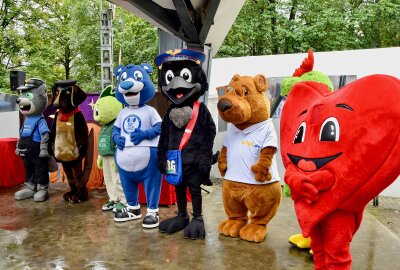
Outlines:
<svg viewBox="0 0 400 270"><path fill-rule="evenodd" d="M184 230L185 238L205 237L202 217L201 184L210 184L212 147L215 138L215 124L204 103L197 99L208 89L206 75L201 67L205 55L193 50L167 51L156 57L159 67L158 84L162 93L172 102L162 122L158 144L158 163L162 173L170 172L167 166L167 151L177 150L182 138L191 129L191 136L181 150L182 182L175 185L178 214L160 223L160 232L172 234ZM198 109L193 128L190 123ZM168 169L168 170L167 170ZM167 176L168 177L168 176ZM168 178L167 178L168 179ZM189 224L186 189L192 197L193 218Z"/></svg>

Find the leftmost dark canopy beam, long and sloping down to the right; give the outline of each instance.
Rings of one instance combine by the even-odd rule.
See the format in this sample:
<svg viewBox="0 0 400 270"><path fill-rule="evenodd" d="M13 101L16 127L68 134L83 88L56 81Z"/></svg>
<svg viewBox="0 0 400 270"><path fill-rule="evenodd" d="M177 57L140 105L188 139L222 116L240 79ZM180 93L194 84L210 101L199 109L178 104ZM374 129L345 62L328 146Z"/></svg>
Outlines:
<svg viewBox="0 0 400 270"><path fill-rule="evenodd" d="M128 0L138 10L152 18L154 21L162 25L166 30L173 35L178 36L185 42L190 42L180 32L181 23L177 17L177 13L173 10L165 9L154 3L153 1L143 0Z"/></svg>

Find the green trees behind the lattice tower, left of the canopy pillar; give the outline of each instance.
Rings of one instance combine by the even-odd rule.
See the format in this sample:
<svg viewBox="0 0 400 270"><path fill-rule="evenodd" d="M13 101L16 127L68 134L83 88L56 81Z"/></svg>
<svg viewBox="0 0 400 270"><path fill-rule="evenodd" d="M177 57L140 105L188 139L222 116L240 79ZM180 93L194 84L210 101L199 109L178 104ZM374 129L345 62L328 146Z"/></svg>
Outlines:
<svg viewBox="0 0 400 270"><path fill-rule="evenodd" d="M8 91L15 69L49 89L56 80L75 79L87 92L101 91L100 1L0 0L0 11L0 91ZM154 27L120 8L114 26L115 66L120 48L123 64L153 64Z"/></svg>

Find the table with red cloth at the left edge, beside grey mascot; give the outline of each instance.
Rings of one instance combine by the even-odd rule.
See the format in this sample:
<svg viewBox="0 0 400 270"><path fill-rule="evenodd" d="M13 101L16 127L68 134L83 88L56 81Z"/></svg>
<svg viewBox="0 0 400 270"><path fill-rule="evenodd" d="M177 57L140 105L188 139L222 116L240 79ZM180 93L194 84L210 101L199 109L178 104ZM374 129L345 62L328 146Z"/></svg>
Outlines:
<svg viewBox="0 0 400 270"><path fill-rule="evenodd" d="M25 182L21 157L15 155L17 138L0 139L0 186L11 187Z"/></svg>

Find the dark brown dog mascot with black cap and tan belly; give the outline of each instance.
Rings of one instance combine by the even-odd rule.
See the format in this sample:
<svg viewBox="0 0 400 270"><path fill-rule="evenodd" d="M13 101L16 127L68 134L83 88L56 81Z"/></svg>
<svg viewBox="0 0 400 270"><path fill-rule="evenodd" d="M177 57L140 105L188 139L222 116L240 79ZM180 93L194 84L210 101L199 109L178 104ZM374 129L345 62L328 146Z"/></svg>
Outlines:
<svg viewBox="0 0 400 270"><path fill-rule="evenodd" d="M50 142L54 157L63 166L67 175L70 191L64 194L64 200L72 203L88 199L82 169L82 159L88 147L88 127L78 105L86 99L86 93L74 80L55 82L53 86L53 106L58 108L50 132Z"/></svg>

